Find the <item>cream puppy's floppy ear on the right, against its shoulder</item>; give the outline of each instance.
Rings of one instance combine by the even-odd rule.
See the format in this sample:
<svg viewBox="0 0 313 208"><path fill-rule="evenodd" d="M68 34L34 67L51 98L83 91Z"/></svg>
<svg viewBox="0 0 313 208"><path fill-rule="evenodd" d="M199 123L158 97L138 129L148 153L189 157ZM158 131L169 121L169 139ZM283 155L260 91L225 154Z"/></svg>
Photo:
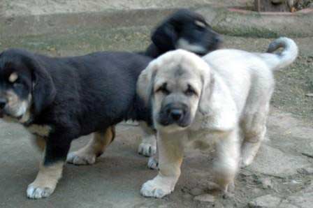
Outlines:
<svg viewBox="0 0 313 208"><path fill-rule="evenodd" d="M210 98L214 87L214 76L211 73L210 66L208 64L206 65L207 66L203 68L203 73L201 75L201 82L203 85L201 90L201 98L198 105L198 110L203 114L207 114L210 111Z"/></svg>

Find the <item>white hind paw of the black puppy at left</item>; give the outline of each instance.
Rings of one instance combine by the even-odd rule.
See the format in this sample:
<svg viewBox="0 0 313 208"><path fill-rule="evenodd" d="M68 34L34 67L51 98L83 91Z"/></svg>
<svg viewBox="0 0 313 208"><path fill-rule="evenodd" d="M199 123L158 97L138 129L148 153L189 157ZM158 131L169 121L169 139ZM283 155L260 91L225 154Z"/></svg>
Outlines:
<svg viewBox="0 0 313 208"><path fill-rule="evenodd" d="M92 165L96 163L96 155L83 151L72 151L67 155L66 161L74 165Z"/></svg>

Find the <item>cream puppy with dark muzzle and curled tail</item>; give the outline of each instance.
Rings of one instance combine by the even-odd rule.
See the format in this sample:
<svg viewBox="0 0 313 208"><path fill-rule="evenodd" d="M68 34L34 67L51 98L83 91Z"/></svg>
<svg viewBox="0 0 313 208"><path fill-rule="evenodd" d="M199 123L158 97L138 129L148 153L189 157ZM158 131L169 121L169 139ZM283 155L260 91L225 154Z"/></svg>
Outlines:
<svg viewBox="0 0 313 208"><path fill-rule="evenodd" d="M184 146L214 145L213 170L217 185L227 192L240 162L252 163L266 131L274 89L273 70L291 64L298 47L289 38L270 44L268 52L253 54L217 50L203 59L176 50L152 61L138 79L138 94L152 106L157 129L159 174L147 181L141 194L162 198L171 193L180 176Z"/></svg>

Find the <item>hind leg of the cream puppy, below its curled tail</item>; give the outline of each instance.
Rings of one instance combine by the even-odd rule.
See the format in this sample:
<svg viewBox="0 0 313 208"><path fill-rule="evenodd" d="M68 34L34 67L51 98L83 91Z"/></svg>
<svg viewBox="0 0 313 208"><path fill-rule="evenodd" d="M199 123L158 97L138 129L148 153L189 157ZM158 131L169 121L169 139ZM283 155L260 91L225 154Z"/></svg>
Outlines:
<svg viewBox="0 0 313 208"><path fill-rule="evenodd" d="M254 114L246 114L242 119L242 132L244 141L242 143L242 158L240 167L250 165L259 151L261 142L265 138L266 119L269 110L269 103L259 107Z"/></svg>

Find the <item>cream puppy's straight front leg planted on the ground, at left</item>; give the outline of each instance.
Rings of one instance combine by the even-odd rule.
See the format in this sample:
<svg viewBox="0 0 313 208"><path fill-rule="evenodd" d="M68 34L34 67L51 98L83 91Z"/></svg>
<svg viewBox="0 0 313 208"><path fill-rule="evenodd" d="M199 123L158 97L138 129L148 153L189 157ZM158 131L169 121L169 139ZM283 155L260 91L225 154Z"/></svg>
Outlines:
<svg viewBox="0 0 313 208"><path fill-rule="evenodd" d="M158 137L159 174L143 184L140 193L146 197L163 198L174 191L180 177L180 165L183 158L184 135L168 134Z"/></svg>

